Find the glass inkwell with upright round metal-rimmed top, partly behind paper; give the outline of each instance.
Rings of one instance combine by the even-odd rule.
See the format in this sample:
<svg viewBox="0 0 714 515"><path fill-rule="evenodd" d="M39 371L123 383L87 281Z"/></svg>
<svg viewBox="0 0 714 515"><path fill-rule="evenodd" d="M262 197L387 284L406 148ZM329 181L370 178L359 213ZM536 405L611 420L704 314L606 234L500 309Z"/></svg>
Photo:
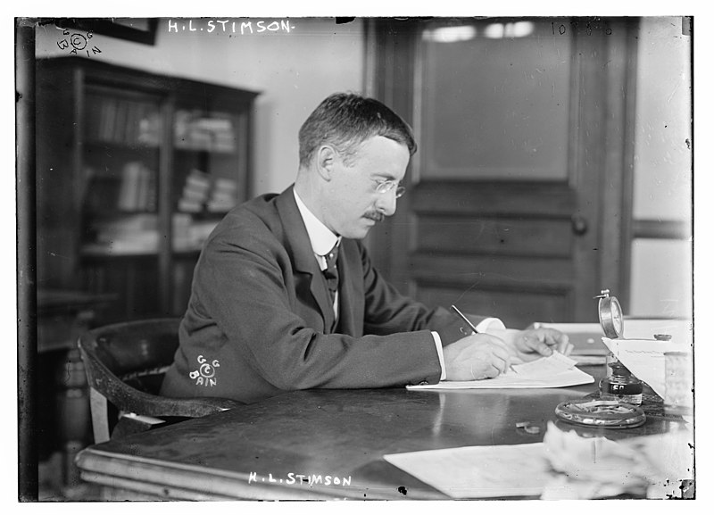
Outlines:
<svg viewBox="0 0 714 515"><path fill-rule="evenodd" d="M595 298L600 299L598 316L605 336L610 339L623 338L625 322L617 297L610 296L610 290L602 290L601 295ZM605 401L642 404L642 381L635 378L614 353L608 353L606 366L607 374L600 381L600 398Z"/></svg>

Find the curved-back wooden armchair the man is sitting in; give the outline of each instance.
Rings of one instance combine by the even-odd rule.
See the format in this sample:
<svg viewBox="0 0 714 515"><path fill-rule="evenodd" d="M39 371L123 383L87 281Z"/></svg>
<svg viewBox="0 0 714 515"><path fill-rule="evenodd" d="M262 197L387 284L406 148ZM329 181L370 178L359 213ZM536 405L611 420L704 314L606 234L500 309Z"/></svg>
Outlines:
<svg viewBox="0 0 714 515"><path fill-rule="evenodd" d="M87 331L79 352L89 384L95 443L137 433L172 419L203 417L243 405L216 397L158 395L179 347L179 319L139 320ZM109 405L107 403L111 403ZM116 424L111 422L114 408Z"/></svg>

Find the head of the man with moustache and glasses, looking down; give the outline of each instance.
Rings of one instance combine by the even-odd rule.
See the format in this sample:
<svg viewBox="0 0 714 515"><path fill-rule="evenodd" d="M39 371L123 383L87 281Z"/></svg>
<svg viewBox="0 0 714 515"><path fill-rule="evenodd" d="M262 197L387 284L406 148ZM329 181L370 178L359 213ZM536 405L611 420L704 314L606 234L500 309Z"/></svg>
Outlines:
<svg viewBox="0 0 714 515"><path fill-rule="evenodd" d="M353 94L328 96L299 134L298 193L340 236L362 238L396 198L417 145L410 127L386 105Z"/></svg>

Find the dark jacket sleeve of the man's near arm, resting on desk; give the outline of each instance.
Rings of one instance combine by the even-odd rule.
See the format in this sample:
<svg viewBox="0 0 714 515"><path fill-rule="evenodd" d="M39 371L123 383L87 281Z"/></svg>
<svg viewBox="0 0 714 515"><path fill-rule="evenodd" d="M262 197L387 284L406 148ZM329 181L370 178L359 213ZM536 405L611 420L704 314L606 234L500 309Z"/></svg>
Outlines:
<svg viewBox="0 0 714 515"><path fill-rule="evenodd" d="M405 324L403 331L411 332L359 338L322 334L295 312L295 303L303 301L295 295L285 250L270 237L237 236L245 235L215 237L204 249L189 307L195 325L202 319L220 329L226 361L245 362L283 390L438 381L441 370L427 328ZM368 302L382 303L378 295Z"/></svg>

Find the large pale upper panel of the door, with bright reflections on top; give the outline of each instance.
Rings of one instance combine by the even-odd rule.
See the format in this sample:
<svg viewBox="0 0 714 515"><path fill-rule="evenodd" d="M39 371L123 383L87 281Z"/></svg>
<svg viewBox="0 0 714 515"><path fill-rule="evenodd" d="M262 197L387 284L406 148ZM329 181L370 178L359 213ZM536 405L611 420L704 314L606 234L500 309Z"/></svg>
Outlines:
<svg viewBox="0 0 714 515"><path fill-rule="evenodd" d="M416 45L423 179L568 179L570 37L547 19L437 20Z"/></svg>

